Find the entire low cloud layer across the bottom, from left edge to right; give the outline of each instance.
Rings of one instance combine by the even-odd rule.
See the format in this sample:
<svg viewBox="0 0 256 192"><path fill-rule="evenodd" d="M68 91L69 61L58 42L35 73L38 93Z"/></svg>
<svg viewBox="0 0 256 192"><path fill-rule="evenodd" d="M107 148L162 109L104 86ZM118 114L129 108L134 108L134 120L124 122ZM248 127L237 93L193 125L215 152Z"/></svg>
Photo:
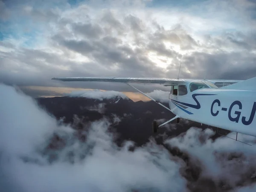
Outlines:
<svg viewBox="0 0 256 192"><path fill-rule="evenodd" d="M131 150L131 141L121 147L114 143L108 119L86 122L78 132L4 84L0 84L0 108L0 188L5 192L256 189L255 137L239 134L239 140L253 145L249 146L227 137L213 140L211 129L192 127L167 138L166 147L150 138ZM113 119L122 121L115 114Z"/></svg>

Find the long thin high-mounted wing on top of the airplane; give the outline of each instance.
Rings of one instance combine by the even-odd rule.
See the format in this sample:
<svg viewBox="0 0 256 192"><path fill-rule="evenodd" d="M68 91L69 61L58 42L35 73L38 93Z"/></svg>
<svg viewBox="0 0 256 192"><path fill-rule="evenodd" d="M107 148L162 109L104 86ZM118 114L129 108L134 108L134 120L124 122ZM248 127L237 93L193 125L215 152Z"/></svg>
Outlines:
<svg viewBox="0 0 256 192"><path fill-rule="evenodd" d="M168 78L144 78L144 77L58 77L52 78L58 81L103 81L103 82L119 82L119 83L155 83L176 85L180 81L210 81L219 86L234 84L241 80L224 80L224 79L168 79Z"/></svg>

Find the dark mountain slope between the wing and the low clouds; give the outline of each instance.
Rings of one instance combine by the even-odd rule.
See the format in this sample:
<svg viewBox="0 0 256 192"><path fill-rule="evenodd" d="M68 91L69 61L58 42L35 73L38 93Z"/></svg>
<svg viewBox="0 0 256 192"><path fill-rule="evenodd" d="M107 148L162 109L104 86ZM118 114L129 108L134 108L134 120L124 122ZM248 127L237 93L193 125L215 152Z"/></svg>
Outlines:
<svg viewBox="0 0 256 192"><path fill-rule="evenodd" d="M83 122L92 122L108 118L112 123L112 130L119 134L119 142L122 140L132 140L138 145L143 145L150 136L157 136L166 132L168 136L175 136L187 131L192 126L201 126L196 122L185 124L169 124L166 128L160 128L157 134L152 132L152 122L154 119L162 119L159 123L173 118L175 115L153 101L133 102L131 99L116 97L113 99L87 99L84 97L54 97L38 98L38 104L46 111L54 115L57 119L64 117L65 123L73 123L74 116L83 119ZM163 103L168 107L167 103ZM115 118L116 117L116 118ZM203 128L206 128L203 125ZM82 128L81 124L76 129Z"/></svg>

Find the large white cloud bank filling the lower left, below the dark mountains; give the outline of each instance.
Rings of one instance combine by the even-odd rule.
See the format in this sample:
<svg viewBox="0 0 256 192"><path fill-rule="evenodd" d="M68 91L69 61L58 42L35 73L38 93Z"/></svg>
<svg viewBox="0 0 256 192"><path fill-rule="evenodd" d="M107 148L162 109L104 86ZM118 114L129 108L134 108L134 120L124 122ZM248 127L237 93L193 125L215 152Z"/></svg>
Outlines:
<svg viewBox="0 0 256 192"><path fill-rule="evenodd" d="M0 95L1 189L186 191L181 165L153 141L134 151L129 150L131 142L118 147L108 132L110 122L102 119L87 125L81 142L72 128L15 88L1 84Z"/></svg>

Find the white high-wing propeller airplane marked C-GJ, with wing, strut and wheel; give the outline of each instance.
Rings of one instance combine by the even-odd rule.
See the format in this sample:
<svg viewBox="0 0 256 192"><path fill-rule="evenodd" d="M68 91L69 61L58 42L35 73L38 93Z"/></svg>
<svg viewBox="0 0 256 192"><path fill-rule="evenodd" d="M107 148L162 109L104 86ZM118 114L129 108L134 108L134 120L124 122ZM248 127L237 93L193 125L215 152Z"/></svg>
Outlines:
<svg viewBox="0 0 256 192"><path fill-rule="evenodd" d="M161 125L153 121L153 132L180 118L256 137L256 77L247 80L167 79L132 77L63 77L58 81L121 82L175 114ZM169 108L130 83L170 86ZM218 85L218 86L217 86ZM237 140L237 134L236 134Z"/></svg>

